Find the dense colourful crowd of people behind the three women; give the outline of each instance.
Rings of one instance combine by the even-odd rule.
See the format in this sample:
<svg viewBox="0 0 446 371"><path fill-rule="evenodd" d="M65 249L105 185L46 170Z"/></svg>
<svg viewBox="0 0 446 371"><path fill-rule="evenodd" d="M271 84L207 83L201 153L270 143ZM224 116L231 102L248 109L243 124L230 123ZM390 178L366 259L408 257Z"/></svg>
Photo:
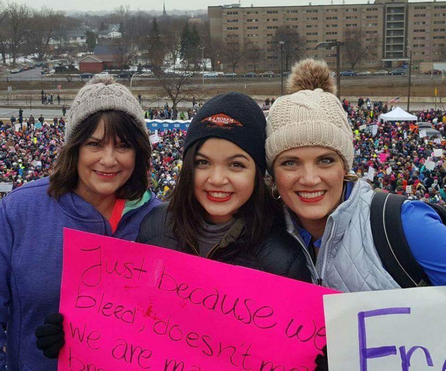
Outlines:
<svg viewBox="0 0 446 371"><path fill-rule="evenodd" d="M345 99L342 104L355 134L352 170L357 175L368 179L372 167L375 174L373 181L368 182L374 188L445 205L446 157L445 154L433 156L434 149L445 148L445 139L420 137L416 125L406 122L379 123L379 115L392 108L382 102L370 99L364 102L360 98L357 105ZM166 104L164 112L168 110ZM148 117L159 118L160 111L150 110ZM193 114L191 112L189 118ZM420 121L431 122L443 137L446 136L445 112L429 109L414 114ZM40 117L38 122L42 127L36 128L32 119L25 120L26 125L19 131L15 130L14 122L0 122L0 181L12 182L13 188L48 176L57 147L63 143L63 118L46 123ZM175 186L181 170L185 135L181 130L160 132L158 141L152 144L151 188L162 200ZM426 161L434 162L434 169L429 169ZM4 194L0 192L0 198Z"/></svg>

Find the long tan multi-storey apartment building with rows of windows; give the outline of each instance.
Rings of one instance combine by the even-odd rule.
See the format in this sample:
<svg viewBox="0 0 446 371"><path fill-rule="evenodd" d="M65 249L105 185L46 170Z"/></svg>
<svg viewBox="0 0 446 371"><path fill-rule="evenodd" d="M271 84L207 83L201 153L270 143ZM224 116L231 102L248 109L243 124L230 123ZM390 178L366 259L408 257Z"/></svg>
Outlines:
<svg viewBox="0 0 446 371"><path fill-rule="evenodd" d="M280 70L280 53L273 44L279 26L296 29L303 37L304 54L325 59L335 66L336 52L315 49L323 41L344 41L345 36L361 35L364 45L373 42L376 53L355 68L395 67L408 57L412 62L440 61L446 43L446 1L408 2L407 0L375 0L363 4L251 6L239 4L209 6L211 35L224 42L236 38L240 47L256 45L263 50L260 69ZM348 61L341 53L341 64ZM228 68L222 64L222 68ZM240 59L237 70L250 70L252 63Z"/></svg>

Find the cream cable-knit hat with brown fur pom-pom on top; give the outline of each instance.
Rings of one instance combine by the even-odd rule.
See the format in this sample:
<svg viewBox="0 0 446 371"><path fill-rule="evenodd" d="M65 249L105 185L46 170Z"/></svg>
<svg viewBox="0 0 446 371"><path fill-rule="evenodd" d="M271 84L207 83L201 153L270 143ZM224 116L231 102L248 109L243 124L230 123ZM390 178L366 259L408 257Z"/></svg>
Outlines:
<svg viewBox="0 0 446 371"><path fill-rule="evenodd" d="M268 168L283 151L321 146L335 150L349 171L354 157L353 133L334 95L335 83L327 63L312 59L295 63L287 90L290 94L274 102L267 118Z"/></svg>

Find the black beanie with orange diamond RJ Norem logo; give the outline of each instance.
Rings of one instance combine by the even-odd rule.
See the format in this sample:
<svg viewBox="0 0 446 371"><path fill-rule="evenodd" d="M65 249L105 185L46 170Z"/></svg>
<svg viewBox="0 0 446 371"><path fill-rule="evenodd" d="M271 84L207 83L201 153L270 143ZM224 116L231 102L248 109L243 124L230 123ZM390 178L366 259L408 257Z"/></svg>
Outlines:
<svg viewBox="0 0 446 371"><path fill-rule="evenodd" d="M197 140L210 137L237 144L265 174L266 120L254 99L243 93L230 92L207 101L187 129L183 156Z"/></svg>

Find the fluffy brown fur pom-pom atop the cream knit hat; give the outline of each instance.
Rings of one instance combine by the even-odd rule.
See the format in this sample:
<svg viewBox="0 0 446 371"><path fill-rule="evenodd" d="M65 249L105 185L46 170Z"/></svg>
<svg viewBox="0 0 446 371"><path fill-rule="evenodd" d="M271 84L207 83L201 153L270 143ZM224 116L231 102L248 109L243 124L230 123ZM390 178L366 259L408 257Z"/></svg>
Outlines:
<svg viewBox="0 0 446 371"><path fill-rule="evenodd" d="M335 81L327 63L310 58L294 63L286 83L288 93L317 88L336 94Z"/></svg>

